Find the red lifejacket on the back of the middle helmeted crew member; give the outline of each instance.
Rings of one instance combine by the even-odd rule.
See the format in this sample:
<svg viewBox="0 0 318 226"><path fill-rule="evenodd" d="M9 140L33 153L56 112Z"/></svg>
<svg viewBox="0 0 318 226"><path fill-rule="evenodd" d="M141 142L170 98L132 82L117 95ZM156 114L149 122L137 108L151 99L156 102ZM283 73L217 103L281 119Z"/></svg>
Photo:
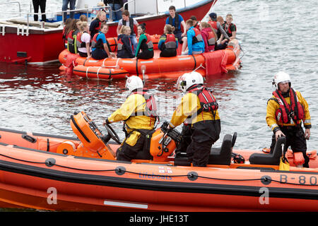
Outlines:
<svg viewBox="0 0 318 226"><path fill-rule="evenodd" d="M199 97L200 109L196 114L201 112L214 112L218 109L218 102L216 102L216 97L214 97L210 90L208 90L204 85L194 85L194 87L188 90L189 93L195 93ZM213 113L215 117L215 114Z"/></svg>

